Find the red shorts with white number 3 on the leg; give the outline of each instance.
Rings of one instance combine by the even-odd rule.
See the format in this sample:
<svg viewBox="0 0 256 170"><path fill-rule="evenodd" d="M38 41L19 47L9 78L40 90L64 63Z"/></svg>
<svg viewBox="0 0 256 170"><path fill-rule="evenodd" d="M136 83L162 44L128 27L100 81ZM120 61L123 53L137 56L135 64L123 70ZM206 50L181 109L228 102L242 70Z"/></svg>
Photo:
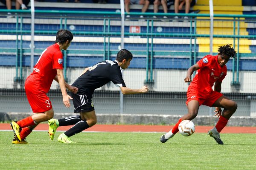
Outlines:
<svg viewBox="0 0 256 170"><path fill-rule="evenodd" d="M33 113L44 113L52 108L49 97L34 82L26 80L25 91Z"/></svg>

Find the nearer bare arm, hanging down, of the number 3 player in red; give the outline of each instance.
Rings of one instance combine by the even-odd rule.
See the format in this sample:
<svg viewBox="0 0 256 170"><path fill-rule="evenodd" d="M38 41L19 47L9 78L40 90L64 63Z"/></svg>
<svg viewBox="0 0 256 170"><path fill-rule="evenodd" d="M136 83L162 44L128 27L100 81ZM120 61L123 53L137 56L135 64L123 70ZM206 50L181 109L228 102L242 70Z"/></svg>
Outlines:
<svg viewBox="0 0 256 170"><path fill-rule="evenodd" d="M56 69L56 70L57 70L58 83L60 85L61 93L63 97L63 103L67 108L69 108L70 107L69 99L73 99L73 98L67 94L63 70L62 69Z"/></svg>

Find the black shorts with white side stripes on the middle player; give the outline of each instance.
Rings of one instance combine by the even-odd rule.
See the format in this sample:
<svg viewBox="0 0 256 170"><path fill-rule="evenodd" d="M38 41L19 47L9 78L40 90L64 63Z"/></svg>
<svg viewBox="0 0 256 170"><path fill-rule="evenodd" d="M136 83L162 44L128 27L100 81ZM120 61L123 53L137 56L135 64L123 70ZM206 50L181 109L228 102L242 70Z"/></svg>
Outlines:
<svg viewBox="0 0 256 170"><path fill-rule="evenodd" d="M70 96L73 98L74 113L94 111L93 101L90 96L73 93Z"/></svg>

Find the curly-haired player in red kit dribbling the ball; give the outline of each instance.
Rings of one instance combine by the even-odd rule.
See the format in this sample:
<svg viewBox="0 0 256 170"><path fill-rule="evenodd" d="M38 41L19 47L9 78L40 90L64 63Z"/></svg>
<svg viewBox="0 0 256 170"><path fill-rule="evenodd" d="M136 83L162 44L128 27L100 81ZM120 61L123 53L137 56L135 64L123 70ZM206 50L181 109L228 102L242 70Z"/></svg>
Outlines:
<svg viewBox="0 0 256 170"><path fill-rule="evenodd" d="M220 93L221 82L227 75L226 63L230 57L235 56L236 51L230 47L230 44L227 44L218 48L217 56L207 55L188 69L185 82L191 82L191 75L197 70L187 91L188 113L179 119L172 130L161 136L160 141L162 143L165 143L179 131L178 126L181 121L194 119L198 114L199 106L207 105L216 107L215 115L220 117L215 127L208 131L208 134L218 144L223 144L219 133L227 125L228 119L235 113L237 103ZM213 85L214 90L212 90ZM221 111L221 108L224 110Z"/></svg>

